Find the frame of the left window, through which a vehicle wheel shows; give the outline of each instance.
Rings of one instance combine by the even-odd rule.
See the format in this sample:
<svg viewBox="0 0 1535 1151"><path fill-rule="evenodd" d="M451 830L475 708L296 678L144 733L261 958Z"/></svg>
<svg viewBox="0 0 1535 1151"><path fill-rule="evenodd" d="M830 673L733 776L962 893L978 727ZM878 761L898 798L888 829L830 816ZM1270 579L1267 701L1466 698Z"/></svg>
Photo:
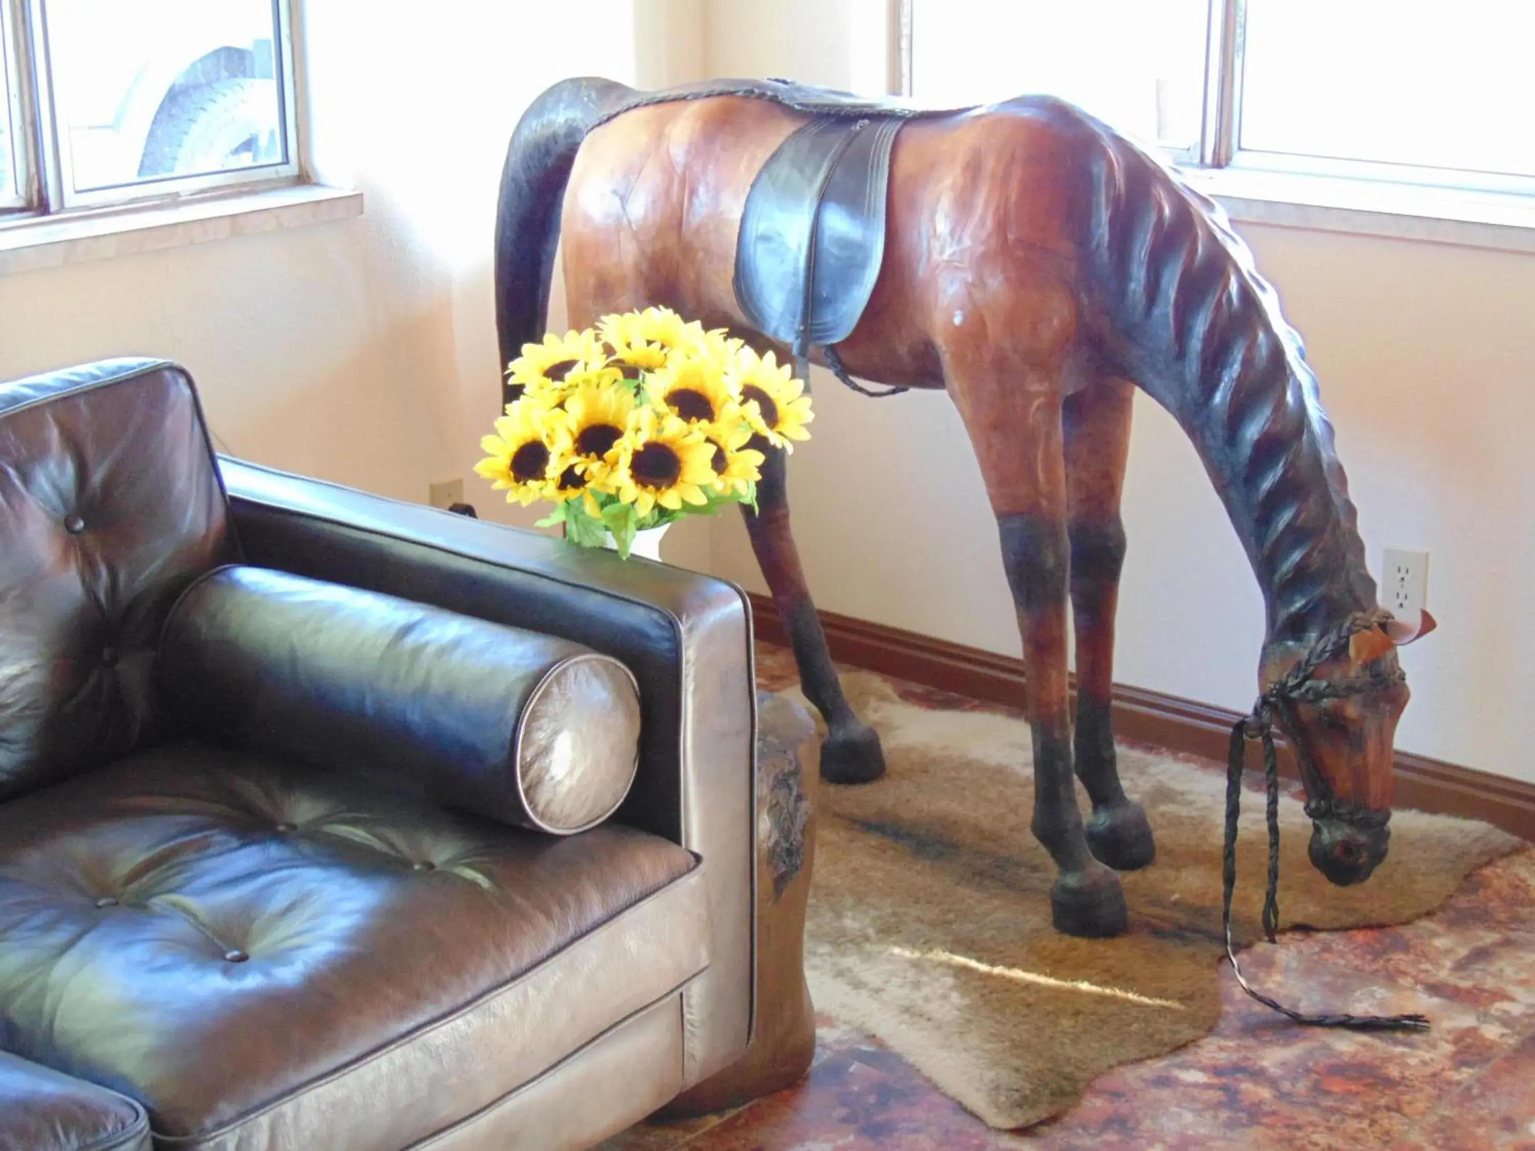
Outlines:
<svg viewBox="0 0 1535 1151"><path fill-rule="evenodd" d="M66 106L57 98L52 75L52 46L48 34L49 0L0 0L0 8L12 17L9 37L17 71L12 74L12 103L20 104L21 134L17 155L26 170L21 187L23 203L0 198L0 229L66 216L134 209L152 204L180 203L193 196L232 192L259 192L301 183L304 161L299 147L296 52L293 17L296 0L267 0L272 6L275 40L272 68L278 80L278 129L282 134L284 160L279 164L236 167L186 176L160 176L117 184L86 192L74 190L69 149L64 146ZM15 114L14 114L15 115Z"/></svg>

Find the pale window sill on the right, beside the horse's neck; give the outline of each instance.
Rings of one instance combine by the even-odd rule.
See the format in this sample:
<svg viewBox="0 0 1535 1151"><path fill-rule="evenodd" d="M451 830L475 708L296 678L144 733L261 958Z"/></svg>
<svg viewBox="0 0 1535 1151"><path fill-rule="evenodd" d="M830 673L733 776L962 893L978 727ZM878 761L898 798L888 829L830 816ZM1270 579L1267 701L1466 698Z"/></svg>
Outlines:
<svg viewBox="0 0 1535 1151"><path fill-rule="evenodd" d="M1236 223L1535 253L1535 196L1239 167L1183 178Z"/></svg>

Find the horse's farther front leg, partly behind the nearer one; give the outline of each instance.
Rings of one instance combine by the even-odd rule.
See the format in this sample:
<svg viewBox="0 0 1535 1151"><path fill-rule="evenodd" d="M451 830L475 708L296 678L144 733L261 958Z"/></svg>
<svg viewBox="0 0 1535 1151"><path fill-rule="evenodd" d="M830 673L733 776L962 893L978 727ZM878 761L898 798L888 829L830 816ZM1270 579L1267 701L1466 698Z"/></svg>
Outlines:
<svg viewBox="0 0 1535 1151"><path fill-rule="evenodd" d="M1062 410L1076 628L1076 777L1093 801L1087 844L1121 872L1145 867L1156 856L1145 810L1119 783L1110 723L1114 608L1125 560L1119 499L1130 454L1131 396L1127 381L1104 378L1070 396Z"/></svg>

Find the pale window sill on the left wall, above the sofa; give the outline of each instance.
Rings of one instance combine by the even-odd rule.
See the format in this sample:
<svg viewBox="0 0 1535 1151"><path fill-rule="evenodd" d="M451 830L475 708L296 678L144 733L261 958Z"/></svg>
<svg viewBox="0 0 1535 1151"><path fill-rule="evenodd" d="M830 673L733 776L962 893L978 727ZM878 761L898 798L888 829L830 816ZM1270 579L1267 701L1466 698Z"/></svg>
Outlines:
<svg viewBox="0 0 1535 1151"><path fill-rule="evenodd" d="M0 275L362 215L362 193L289 184L0 226Z"/></svg>

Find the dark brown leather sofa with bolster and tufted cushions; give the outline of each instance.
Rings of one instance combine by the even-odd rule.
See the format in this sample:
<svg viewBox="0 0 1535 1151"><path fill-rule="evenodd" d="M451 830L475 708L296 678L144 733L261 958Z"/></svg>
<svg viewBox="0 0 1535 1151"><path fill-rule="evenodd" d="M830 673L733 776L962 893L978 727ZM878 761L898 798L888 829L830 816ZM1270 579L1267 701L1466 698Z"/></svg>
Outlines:
<svg viewBox="0 0 1535 1151"><path fill-rule="evenodd" d="M663 1106L754 1025L754 709L737 588L218 457L167 362L0 385L0 1149Z"/></svg>

